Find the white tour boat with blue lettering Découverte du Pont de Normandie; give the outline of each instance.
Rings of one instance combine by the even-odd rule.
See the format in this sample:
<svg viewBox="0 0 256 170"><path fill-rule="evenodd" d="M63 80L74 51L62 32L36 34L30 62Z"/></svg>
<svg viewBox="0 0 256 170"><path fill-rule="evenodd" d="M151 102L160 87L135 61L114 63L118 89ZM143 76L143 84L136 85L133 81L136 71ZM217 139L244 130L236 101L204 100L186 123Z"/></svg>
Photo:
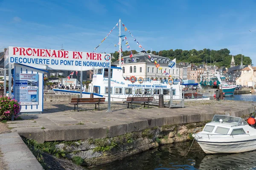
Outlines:
<svg viewBox="0 0 256 170"><path fill-rule="evenodd" d="M111 66L111 101L125 101L128 96L153 96L158 99L159 94L164 95L164 100L182 99L182 85L180 81L169 79L166 81L143 79L132 76L125 79L122 68ZM55 94L72 95L80 91L52 89ZM93 80L89 84L88 92L82 92L82 97L105 97L108 100L108 68L94 70Z"/></svg>

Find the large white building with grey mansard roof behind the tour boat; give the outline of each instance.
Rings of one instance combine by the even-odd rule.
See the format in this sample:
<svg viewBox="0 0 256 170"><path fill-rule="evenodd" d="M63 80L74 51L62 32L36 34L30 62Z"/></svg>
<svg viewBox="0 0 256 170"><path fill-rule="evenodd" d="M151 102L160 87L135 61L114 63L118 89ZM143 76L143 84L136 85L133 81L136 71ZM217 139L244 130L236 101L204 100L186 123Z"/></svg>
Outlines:
<svg viewBox="0 0 256 170"><path fill-rule="evenodd" d="M134 54L133 57L123 57L124 63L121 66L123 77L135 76L137 79L139 77L143 79L164 79L166 77L168 79L169 75L171 75L173 79L180 78L180 65L176 64L176 68L170 68L168 65L172 61L171 59L154 54L149 55L151 58L148 57L148 54L140 52ZM155 61L163 69L159 69L160 67L157 68ZM113 62L112 65L119 67L119 61Z"/></svg>

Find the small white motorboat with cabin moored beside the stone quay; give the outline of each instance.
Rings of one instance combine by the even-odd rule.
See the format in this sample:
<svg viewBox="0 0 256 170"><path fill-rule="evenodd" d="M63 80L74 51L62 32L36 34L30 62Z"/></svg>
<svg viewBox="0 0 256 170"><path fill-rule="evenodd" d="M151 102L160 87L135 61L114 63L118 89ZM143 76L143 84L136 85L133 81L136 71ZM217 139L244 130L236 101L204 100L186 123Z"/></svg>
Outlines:
<svg viewBox="0 0 256 170"><path fill-rule="evenodd" d="M250 124L255 124L254 118L249 119L253 122ZM193 136L205 153L241 153L256 150L256 129L240 117L215 115L203 131Z"/></svg>

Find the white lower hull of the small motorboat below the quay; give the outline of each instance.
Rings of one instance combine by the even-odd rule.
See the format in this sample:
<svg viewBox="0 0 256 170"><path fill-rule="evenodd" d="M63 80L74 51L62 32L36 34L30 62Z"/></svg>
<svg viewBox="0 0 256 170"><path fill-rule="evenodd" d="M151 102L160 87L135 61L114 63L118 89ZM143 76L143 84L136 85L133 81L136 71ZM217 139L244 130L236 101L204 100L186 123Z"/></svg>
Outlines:
<svg viewBox="0 0 256 170"><path fill-rule="evenodd" d="M241 153L256 150L256 139L237 142L199 142L198 144L207 154L213 153Z"/></svg>

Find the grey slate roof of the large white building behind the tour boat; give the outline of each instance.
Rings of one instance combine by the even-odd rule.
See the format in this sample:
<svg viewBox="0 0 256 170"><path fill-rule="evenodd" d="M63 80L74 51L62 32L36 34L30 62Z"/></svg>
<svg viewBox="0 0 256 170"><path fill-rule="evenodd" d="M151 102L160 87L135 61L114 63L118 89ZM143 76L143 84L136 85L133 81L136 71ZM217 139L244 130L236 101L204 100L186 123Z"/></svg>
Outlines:
<svg viewBox="0 0 256 170"><path fill-rule="evenodd" d="M125 56L123 57L123 61L125 64L131 64L131 63L139 63L139 62L146 62L146 63L154 63L156 61L160 65L168 65L169 62L172 60L168 57L161 57L157 56L154 54L150 54L151 58L148 57L147 53L138 53L138 54L133 54L133 57L130 56ZM112 65L119 65L119 60L116 60L115 62L112 63ZM177 64L176 64L177 65ZM177 65L179 66L179 65Z"/></svg>

